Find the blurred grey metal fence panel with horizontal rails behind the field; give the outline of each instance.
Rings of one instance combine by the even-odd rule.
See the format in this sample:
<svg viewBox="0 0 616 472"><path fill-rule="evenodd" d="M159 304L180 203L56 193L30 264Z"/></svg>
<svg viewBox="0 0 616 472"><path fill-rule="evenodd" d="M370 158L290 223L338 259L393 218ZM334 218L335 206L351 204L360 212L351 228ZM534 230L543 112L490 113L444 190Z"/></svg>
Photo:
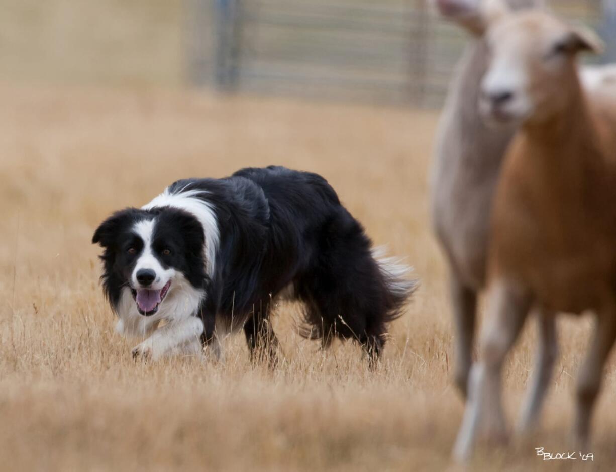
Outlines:
<svg viewBox="0 0 616 472"><path fill-rule="evenodd" d="M208 81L210 67L209 78L225 91L437 106L468 41L427 0L190 1L194 36L204 44L205 31L214 38L213 59L203 59L205 47L194 48L192 81ZM554 4L616 44L616 0ZM213 24L200 27L207 9ZM608 48L606 57L616 60L614 54Z"/></svg>

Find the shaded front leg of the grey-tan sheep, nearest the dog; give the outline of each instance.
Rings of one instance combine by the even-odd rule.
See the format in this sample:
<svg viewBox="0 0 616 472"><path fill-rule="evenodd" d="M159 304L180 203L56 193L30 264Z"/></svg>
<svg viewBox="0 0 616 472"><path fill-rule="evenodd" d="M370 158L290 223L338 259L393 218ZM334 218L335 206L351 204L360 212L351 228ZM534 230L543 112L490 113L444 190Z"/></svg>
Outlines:
<svg viewBox="0 0 616 472"><path fill-rule="evenodd" d="M455 383L466 398L468 377L472 365L472 349L475 335L475 312L477 293L461 283L455 274L451 275L451 298L453 322L455 324Z"/></svg>

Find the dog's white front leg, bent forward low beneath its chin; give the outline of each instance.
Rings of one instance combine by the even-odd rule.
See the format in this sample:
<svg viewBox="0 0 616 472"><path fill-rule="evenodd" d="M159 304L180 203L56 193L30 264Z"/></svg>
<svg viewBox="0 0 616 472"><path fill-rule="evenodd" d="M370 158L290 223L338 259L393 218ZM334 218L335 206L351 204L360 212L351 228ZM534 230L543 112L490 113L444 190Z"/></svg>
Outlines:
<svg viewBox="0 0 616 472"><path fill-rule="evenodd" d="M152 333L152 336L132 349L133 357L158 360L171 352L193 351L195 340L203 333L203 321L191 316L187 319L169 322ZM200 343L199 343L200 345Z"/></svg>

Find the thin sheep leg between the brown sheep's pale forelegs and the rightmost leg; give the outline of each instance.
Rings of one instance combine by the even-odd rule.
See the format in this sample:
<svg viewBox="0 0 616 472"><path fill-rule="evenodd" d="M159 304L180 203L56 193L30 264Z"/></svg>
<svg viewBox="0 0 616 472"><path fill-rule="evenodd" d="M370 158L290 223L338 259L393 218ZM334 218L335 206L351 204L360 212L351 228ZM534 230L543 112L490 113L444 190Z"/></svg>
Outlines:
<svg viewBox="0 0 616 472"><path fill-rule="evenodd" d="M517 426L517 431L520 434L532 433L537 428L543 400L548 391L558 352L555 314L538 310L535 316L537 317L539 333L537 361L520 410Z"/></svg>

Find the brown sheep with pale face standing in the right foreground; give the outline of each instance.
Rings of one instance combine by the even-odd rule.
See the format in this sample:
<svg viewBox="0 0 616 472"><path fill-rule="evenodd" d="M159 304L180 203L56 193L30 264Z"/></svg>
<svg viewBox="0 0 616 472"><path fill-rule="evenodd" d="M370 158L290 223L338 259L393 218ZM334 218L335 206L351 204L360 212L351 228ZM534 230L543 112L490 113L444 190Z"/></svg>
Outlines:
<svg viewBox="0 0 616 472"><path fill-rule="evenodd" d="M505 436L501 371L530 307L596 314L580 368L573 431L586 444L602 368L616 340L616 103L590 100L576 56L600 41L544 12L486 0L492 59L480 110L521 128L493 206L487 323L454 456L468 458L480 428Z"/></svg>

